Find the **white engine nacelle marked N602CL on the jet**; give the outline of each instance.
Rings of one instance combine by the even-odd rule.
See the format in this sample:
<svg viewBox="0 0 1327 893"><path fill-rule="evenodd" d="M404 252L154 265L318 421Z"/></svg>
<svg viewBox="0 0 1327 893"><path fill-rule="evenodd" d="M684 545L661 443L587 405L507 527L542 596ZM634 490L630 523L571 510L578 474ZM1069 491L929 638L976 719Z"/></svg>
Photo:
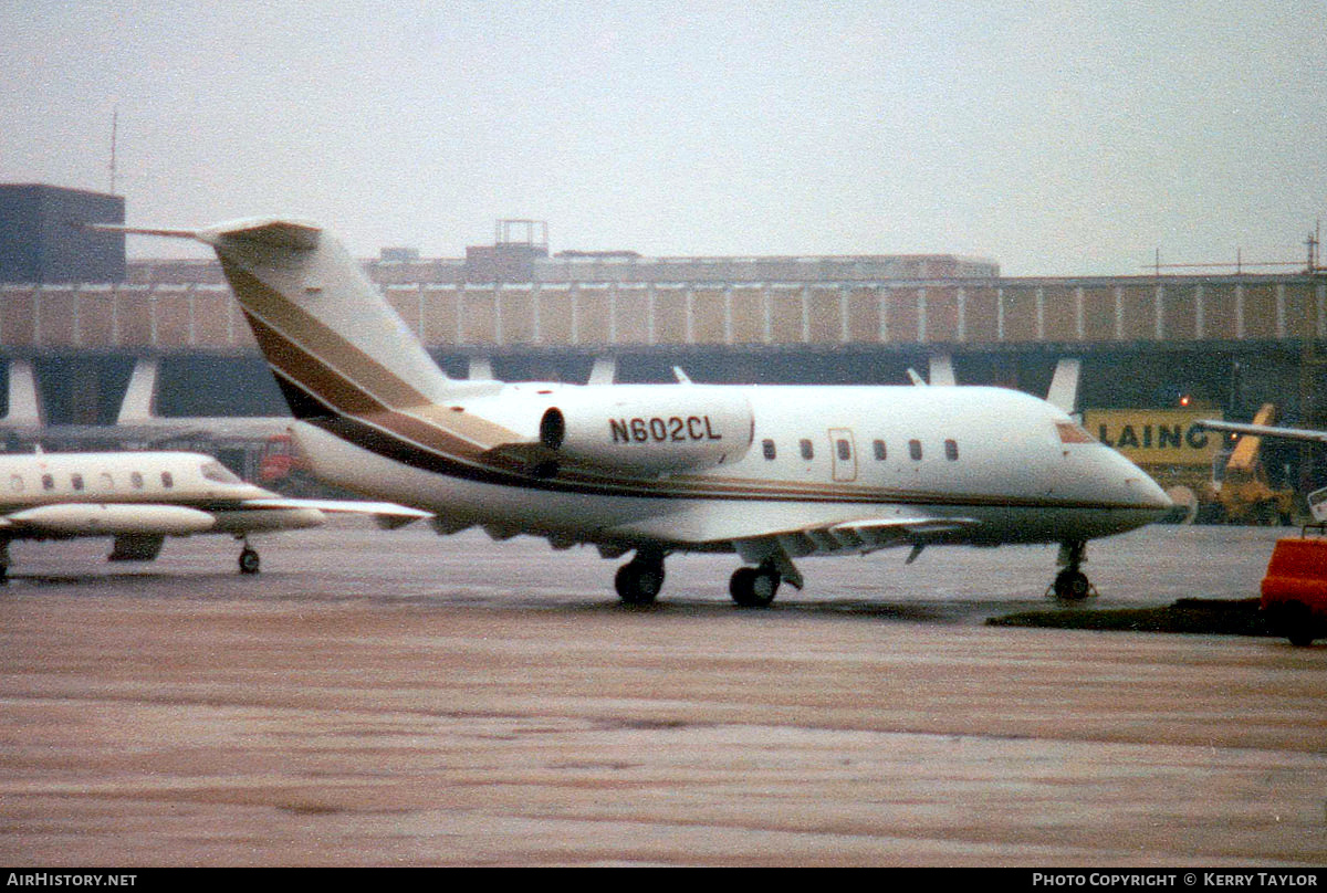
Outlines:
<svg viewBox="0 0 1327 893"><path fill-rule="evenodd" d="M705 385L613 385L559 394L540 443L568 464L662 475L731 463L751 448L742 391Z"/></svg>

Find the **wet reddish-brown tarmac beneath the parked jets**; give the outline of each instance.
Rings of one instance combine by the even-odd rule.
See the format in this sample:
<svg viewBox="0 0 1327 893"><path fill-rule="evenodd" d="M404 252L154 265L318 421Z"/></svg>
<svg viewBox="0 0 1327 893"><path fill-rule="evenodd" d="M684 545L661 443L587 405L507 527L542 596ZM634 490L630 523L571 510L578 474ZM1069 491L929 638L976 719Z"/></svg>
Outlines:
<svg viewBox="0 0 1327 893"><path fill-rule="evenodd" d="M1101 608L1247 598L1277 536L1093 543ZM88 865L1327 862L1327 645L1010 629L1055 549L802 563L338 527L16 544L0 861Z"/></svg>

